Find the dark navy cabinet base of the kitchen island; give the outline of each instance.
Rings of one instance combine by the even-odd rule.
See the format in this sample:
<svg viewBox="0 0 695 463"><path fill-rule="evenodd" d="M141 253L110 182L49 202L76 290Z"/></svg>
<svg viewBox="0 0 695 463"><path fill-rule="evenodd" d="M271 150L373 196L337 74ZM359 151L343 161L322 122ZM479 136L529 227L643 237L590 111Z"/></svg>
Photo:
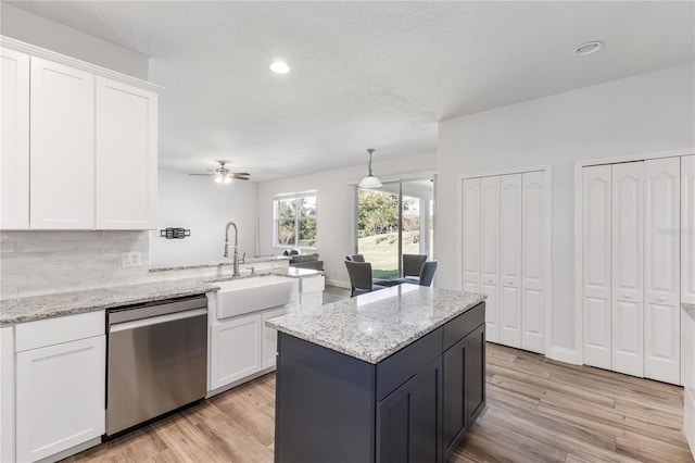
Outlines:
<svg viewBox="0 0 695 463"><path fill-rule="evenodd" d="M484 409L484 318L481 302L377 363L280 331L276 463L447 461Z"/></svg>

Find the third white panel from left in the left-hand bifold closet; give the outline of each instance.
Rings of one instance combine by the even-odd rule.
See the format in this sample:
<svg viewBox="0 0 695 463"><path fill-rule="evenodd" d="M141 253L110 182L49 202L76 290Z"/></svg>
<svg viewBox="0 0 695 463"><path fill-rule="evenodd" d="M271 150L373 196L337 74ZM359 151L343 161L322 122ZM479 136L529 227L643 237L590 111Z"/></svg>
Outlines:
<svg viewBox="0 0 695 463"><path fill-rule="evenodd" d="M521 174L501 176L500 341L521 347Z"/></svg>

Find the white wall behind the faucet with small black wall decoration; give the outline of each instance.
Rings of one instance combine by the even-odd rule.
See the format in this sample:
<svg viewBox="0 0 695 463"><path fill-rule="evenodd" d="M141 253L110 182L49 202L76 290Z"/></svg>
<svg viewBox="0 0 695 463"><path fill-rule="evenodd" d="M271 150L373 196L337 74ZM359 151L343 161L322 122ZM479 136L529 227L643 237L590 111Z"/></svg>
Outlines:
<svg viewBox="0 0 695 463"><path fill-rule="evenodd" d="M239 255L255 255L256 184L233 182L220 185L212 177L160 170L157 229L150 234L150 264L176 266L220 262L225 249L225 225L239 228ZM184 239L160 237L160 229L184 227ZM229 230L233 243L233 228ZM229 255L231 255L231 248Z"/></svg>

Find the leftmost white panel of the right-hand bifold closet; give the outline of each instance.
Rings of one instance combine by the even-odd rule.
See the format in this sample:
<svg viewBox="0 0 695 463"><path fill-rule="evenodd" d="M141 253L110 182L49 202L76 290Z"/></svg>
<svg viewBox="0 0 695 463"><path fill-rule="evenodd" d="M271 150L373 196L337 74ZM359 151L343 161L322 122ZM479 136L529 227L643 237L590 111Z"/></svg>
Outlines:
<svg viewBox="0 0 695 463"><path fill-rule="evenodd" d="M610 368L611 166L582 172L584 363Z"/></svg>

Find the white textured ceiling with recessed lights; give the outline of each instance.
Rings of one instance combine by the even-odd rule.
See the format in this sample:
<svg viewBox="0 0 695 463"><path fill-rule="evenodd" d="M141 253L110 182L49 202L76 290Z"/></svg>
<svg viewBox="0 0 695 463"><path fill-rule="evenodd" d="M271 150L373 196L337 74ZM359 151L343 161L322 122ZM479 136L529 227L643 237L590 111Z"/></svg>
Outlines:
<svg viewBox="0 0 695 463"><path fill-rule="evenodd" d="M151 58L162 167L255 180L434 152L438 121L695 55L692 1L9 3Z"/></svg>

